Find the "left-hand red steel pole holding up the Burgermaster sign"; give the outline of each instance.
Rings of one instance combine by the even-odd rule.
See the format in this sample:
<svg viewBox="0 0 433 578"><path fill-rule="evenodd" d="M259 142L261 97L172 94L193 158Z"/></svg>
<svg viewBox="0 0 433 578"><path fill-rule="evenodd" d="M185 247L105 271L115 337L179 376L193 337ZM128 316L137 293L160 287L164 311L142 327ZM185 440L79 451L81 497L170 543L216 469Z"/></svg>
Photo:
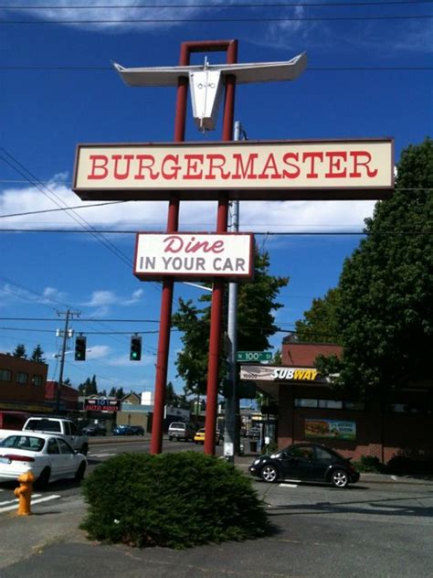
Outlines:
<svg viewBox="0 0 433 578"><path fill-rule="evenodd" d="M189 64L189 50L185 43L181 45L179 66ZM174 142L185 140L186 102L188 97L188 79L181 77L177 81L176 112L174 119ZM167 233L179 228L179 198L173 195L168 205ZM165 387L167 383L168 353L170 348L170 327L172 321L174 280L166 279L161 295L161 317L156 358L155 396L153 400L153 422L151 454L161 454L163 450Z"/></svg>

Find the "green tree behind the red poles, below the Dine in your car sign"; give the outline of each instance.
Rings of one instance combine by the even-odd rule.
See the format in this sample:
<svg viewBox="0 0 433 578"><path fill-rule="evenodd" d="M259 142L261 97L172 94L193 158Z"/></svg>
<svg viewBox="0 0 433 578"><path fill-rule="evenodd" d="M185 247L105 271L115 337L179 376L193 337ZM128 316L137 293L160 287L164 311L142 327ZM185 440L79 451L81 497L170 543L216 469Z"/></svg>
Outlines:
<svg viewBox="0 0 433 578"><path fill-rule="evenodd" d="M282 287L289 283L287 277L269 274L269 253L256 252L255 276L252 283L238 286L238 349L262 351L271 348L269 337L278 329L274 324L273 312L283 305L276 301ZM227 292L226 292L227 315ZM184 348L177 355L177 373L185 381L185 393L203 395L206 393L207 365L209 349L211 296L199 298L206 306L199 307L190 301L179 299L179 308L173 316L173 325L184 335ZM227 318L223 320L227 326ZM224 338L221 343L222 358L225 357ZM220 364L220 377L226 373L224 363Z"/></svg>

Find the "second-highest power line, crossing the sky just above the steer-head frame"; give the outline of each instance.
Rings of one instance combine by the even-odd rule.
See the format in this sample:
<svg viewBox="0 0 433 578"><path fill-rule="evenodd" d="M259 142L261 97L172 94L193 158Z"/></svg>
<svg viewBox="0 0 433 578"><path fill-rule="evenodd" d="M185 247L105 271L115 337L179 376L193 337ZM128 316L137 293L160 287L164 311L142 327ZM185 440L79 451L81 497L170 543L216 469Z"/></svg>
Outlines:
<svg viewBox="0 0 433 578"><path fill-rule="evenodd" d="M407 15L407 16L294 16L294 17L268 17L259 18L134 18L132 20L111 19L111 20L0 20L0 24L13 25L50 25L50 24L182 24L182 23L216 23L216 22L362 22L365 20L423 20L431 19L430 15Z"/></svg>

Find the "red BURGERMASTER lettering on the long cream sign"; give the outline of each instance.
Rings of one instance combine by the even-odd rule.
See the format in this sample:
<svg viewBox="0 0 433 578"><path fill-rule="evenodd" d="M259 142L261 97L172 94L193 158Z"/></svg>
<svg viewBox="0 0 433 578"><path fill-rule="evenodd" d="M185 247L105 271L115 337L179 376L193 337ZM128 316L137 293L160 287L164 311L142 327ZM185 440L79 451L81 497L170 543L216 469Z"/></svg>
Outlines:
<svg viewBox="0 0 433 578"><path fill-rule="evenodd" d="M90 155L89 180L295 180L375 178L378 169L366 150L304 151L264 155ZM233 170L229 166L234 167Z"/></svg>

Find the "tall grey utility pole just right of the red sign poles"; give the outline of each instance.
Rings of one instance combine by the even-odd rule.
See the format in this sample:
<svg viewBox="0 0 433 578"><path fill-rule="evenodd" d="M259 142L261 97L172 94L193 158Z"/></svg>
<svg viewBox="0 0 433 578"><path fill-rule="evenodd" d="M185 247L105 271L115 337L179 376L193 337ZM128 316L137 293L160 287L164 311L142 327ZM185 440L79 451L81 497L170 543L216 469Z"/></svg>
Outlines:
<svg viewBox="0 0 433 578"><path fill-rule="evenodd" d="M240 141L245 133L239 121L235 123L234 141ZM230 232L239 230L239 201L231 202ZM237 352L238 352L238 284L228 284L228 316L227 316L227 394L226 394L226 420L224 428L224 455L227 462L235 461L235 449L237 440Z"/></svg>

